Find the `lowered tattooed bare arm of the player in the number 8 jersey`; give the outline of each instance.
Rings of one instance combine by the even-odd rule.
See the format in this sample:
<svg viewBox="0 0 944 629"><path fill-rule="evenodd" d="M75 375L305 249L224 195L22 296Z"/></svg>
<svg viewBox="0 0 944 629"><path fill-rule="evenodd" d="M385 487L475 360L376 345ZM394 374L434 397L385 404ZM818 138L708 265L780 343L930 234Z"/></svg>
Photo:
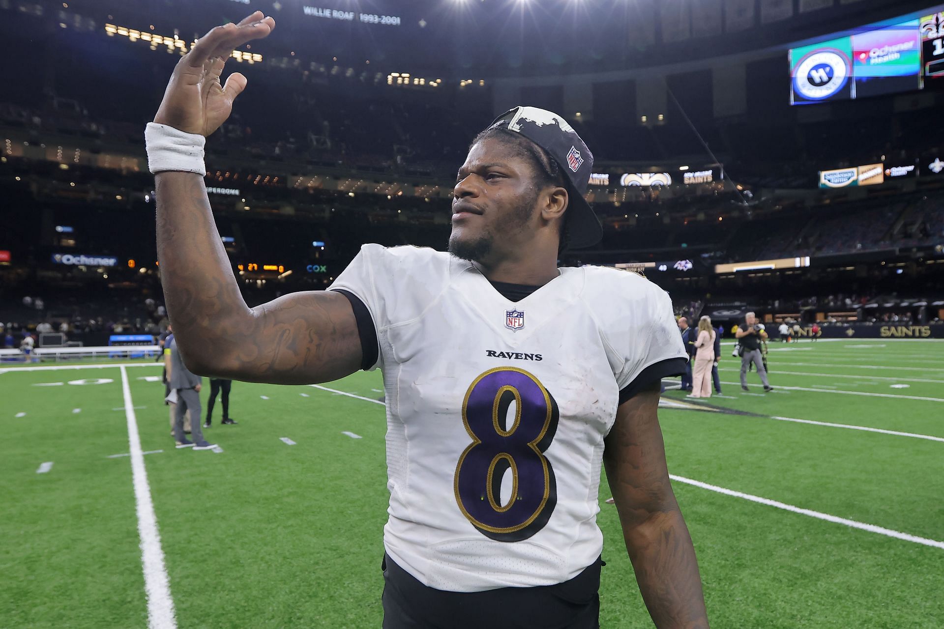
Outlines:
<svg viewBox="0 0 944 629"><path fill-rule="evenodd" d="M666 468L659 388L624 402L603 462L626 550L658 629L708 629L699 565Z"/></svg>

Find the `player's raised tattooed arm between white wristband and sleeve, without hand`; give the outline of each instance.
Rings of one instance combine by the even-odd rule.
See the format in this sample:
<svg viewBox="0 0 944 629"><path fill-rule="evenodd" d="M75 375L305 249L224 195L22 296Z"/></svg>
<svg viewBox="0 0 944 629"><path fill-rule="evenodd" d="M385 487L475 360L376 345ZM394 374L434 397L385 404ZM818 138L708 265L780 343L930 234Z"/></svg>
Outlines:
<svg viewBox="0 0 944 629"><path fill-rule="evenodd" d="M177 348L199 375L310 384L361 367L350 302L330 290L246 306L216 230L203 177L157 175L158 257Z"/></svg>

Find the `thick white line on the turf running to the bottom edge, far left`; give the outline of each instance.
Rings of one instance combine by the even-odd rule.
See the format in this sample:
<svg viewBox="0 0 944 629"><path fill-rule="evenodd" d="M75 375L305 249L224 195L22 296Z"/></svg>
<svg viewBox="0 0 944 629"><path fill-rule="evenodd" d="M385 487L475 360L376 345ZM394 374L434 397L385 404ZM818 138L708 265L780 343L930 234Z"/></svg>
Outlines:
<svg viewBox="0 0 944 629"><path fill-rule="evenodd" d="M125 366L121 365L120 368L121 388L125 395L127 443L131 451L134 502L138 511L138 535L141 538L144 593L147 595L147 626L149 629L177 629L170 579L164 567L164 552L160 548L158 517L154 513L154 503L151 502L151 488L147 485L138 420L134 414L134 403L131 402L131 388L128 386Z"/></svg>

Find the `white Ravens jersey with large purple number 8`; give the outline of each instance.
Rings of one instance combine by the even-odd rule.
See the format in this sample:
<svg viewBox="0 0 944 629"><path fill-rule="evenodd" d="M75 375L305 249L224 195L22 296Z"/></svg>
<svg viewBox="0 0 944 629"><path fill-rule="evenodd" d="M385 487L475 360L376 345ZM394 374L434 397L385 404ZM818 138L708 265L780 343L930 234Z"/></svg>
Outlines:
<svg viewBox="0 0 944 629"><path fill-rule="evenodd" d="M511 302L447 253L367 244L331 286L377 328L384 547L431 588L548 586L591 565L619 391L686 359L666 291L615 269L560 272Z"/></svg>

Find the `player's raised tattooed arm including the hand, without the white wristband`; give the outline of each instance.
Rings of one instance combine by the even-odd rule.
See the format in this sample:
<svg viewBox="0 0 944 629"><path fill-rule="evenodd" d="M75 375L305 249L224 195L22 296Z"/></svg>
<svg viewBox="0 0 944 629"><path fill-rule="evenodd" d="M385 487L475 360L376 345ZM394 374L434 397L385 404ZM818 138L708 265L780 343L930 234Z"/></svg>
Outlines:
<svg viewBox="0 0 944 629"><path fill-rule="evenodd" d="M155 123L211 135L245 89L243 74L220 75L233 49L275 28L260 11L213 28L180 58ZM334 380L359 369L361 341L346 297L300 292L246 306L200 174L157 174L160 280L177 348L200 375L278 384Z"/></svg>

